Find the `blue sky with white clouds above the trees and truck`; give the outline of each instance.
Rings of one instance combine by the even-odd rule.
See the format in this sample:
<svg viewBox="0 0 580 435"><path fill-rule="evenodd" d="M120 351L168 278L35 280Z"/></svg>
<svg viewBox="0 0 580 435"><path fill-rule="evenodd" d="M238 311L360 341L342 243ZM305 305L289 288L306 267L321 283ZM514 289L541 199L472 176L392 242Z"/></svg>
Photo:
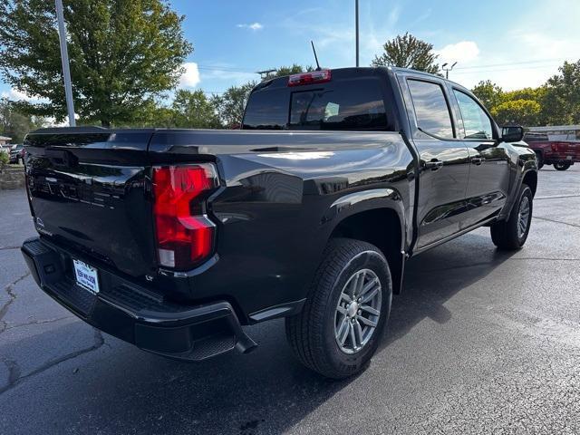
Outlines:
<svg viewBox="0 0 580 435"><path fill-rule="evenodd" d="M173 0L194 45L180 86L223 92L256 80L256 71L313 64L354 64L354 0ZM472 87L490 79L507 90L537 86L565 60L580 58L578 0L360 0L361 64L382 43L411 32L434 45L440 63L458 62L450 78ZM0 92L26 98L0 82Z"/></svg>

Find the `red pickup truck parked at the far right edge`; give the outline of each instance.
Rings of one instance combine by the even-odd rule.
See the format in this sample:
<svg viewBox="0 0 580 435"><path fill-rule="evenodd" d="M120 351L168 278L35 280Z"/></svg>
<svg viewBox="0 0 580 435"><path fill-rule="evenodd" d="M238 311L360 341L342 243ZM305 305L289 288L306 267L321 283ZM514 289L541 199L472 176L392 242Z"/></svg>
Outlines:
<svg viewBox="0 0 580 435"><path fill-rule="evenodd" d="M538 169L554 165L557 170L566 170L580 161L579 140L549 140L544 133L527 132L524 140L536 152Z"/></svg>

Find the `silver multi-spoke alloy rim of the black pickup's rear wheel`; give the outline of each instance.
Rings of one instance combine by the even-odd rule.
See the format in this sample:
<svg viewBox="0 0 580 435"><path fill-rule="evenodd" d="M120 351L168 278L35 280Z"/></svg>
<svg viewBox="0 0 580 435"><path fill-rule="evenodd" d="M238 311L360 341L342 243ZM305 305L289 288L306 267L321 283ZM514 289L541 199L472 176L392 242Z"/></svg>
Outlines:
<svg viewBox="0 0 580 435"><path fill-rule="evenodd" d="M356 271L343 286L334 314L334 338L343 353L357 353L379 324L382 286L371 269Z"/></svg>

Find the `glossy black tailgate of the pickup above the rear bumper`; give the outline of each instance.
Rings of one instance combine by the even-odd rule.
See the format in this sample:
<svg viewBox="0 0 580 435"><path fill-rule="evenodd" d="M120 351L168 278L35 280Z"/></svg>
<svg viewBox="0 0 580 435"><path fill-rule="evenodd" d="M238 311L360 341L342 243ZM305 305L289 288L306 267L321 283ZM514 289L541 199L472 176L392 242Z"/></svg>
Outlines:
<svg viewBox="0 0 580 435"><path fill-rule="evenodd" d="M152 132L93 128L29 134L26 176L36 229L126 274L154 270L146 182Z"/></svg>

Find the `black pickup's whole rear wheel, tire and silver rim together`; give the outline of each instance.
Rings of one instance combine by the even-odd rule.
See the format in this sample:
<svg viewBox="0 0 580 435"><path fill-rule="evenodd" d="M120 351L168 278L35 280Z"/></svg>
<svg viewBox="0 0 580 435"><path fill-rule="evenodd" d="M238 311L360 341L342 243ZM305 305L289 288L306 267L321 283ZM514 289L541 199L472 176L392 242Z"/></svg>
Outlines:
<svg viewBox="0 0 580 435"><path fill-rule="evenodd" d="M377 350L391 297L391 271L377 247L331 240L302 313L286 318L295 356L328 378L361 372Z"/></svg>

